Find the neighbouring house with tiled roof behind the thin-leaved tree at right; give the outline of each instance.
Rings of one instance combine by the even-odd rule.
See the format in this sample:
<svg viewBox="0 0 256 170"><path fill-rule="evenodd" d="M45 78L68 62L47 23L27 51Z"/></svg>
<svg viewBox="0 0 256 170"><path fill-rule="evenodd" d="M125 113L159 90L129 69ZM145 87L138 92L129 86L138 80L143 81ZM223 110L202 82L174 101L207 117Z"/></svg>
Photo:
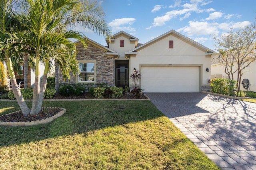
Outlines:
<svg viewBox="0 0 256 170"><path fill-rule="evenodd" d="M236 67L236 65L234 65L234 67ZM228 79L228 75L225 73L225 66L222 64L222 61L220 60L219 55L212 56L211 79L213 78ZM250 91L256 92L256 61L254 61L244 69L243 75L241 77L241 83L243 79L248 79L250 82L250 86L249 86ZM234 73L234 80L237 81L237 73ZM240 86L240 90L246 90L243 88L242 84Z"/></svg>

